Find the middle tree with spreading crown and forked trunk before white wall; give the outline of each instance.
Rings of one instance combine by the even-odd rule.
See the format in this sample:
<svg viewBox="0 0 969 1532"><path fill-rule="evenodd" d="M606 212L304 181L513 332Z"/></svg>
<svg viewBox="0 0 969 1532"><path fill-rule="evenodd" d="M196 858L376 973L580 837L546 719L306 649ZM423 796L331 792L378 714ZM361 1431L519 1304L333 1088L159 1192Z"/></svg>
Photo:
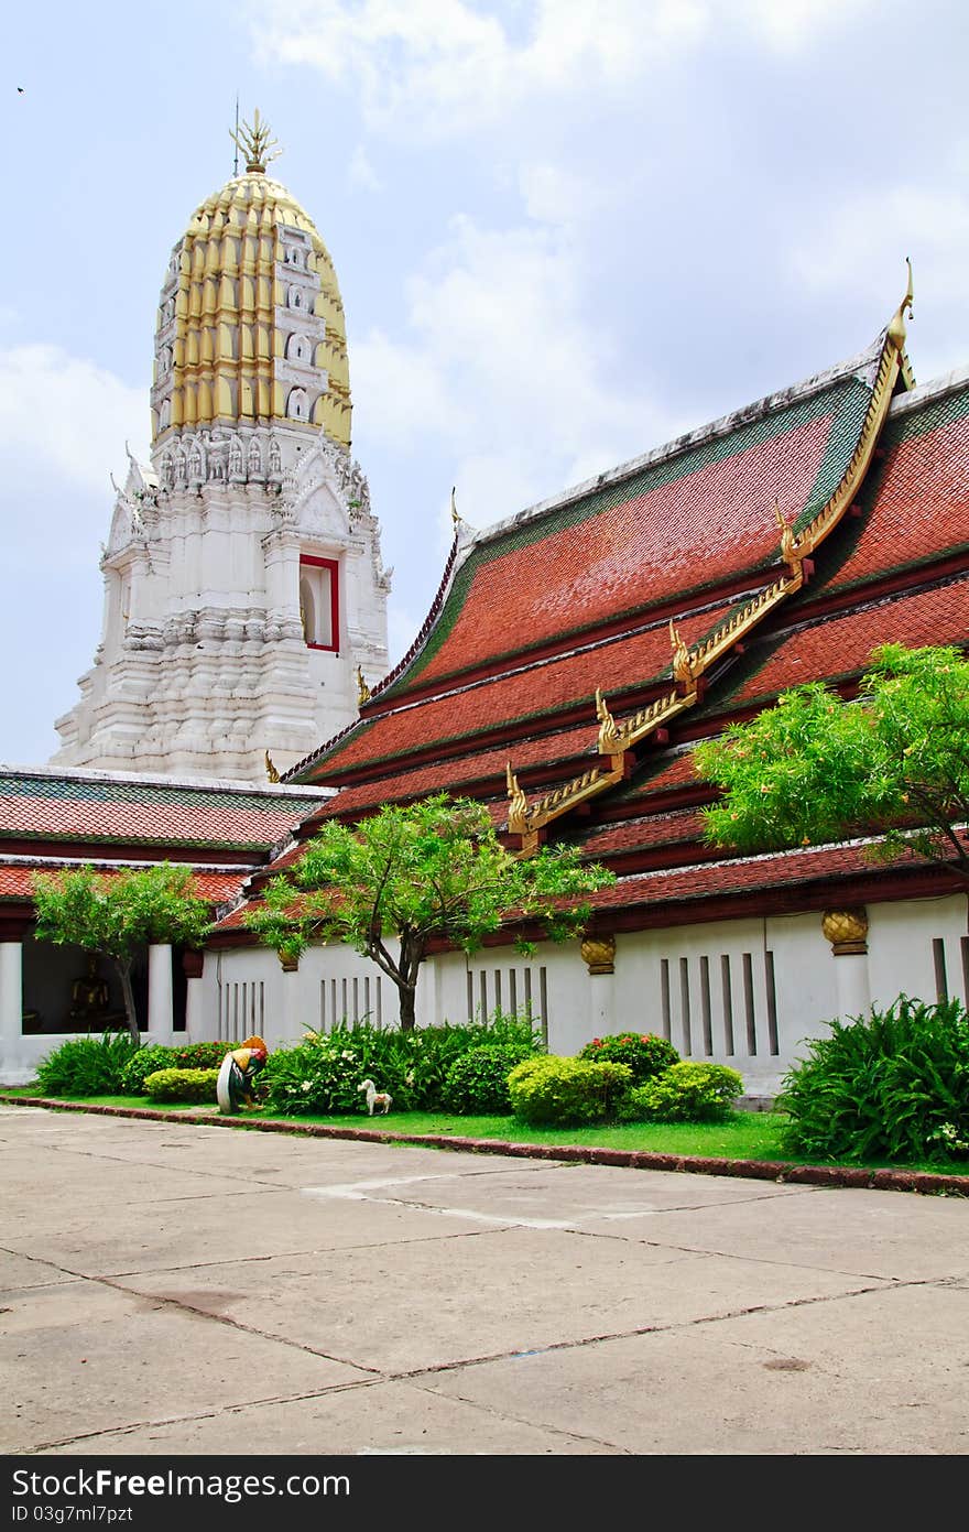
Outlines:
<svg viewBox="0 0 969 1532"><path fill-rule="evenodd" d="M537 919L563 941L588 921L579 898L614 881L602 867L582 866L574 850L514 856L482 804L436 794L407 807L386 804L352 827L326 824L292 872L269 881L245 924L289 959L314 939L349 942L393 980L409 1030L433 941L476 951L508 915ZM389 938L400 942L396 958ZM525 941L517 947L531 950Z"/></svg>

